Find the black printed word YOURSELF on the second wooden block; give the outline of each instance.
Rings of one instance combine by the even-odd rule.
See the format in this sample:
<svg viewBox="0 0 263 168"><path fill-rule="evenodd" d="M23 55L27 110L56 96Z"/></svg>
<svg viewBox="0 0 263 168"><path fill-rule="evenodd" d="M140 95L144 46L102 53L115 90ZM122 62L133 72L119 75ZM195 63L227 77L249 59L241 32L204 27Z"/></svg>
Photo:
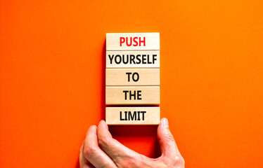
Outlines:
<svg viewBox="0 0 263 168"><path fill-rule="evenodd" d="M155 64L157 55L108 55L110 64Z"/></svg>

